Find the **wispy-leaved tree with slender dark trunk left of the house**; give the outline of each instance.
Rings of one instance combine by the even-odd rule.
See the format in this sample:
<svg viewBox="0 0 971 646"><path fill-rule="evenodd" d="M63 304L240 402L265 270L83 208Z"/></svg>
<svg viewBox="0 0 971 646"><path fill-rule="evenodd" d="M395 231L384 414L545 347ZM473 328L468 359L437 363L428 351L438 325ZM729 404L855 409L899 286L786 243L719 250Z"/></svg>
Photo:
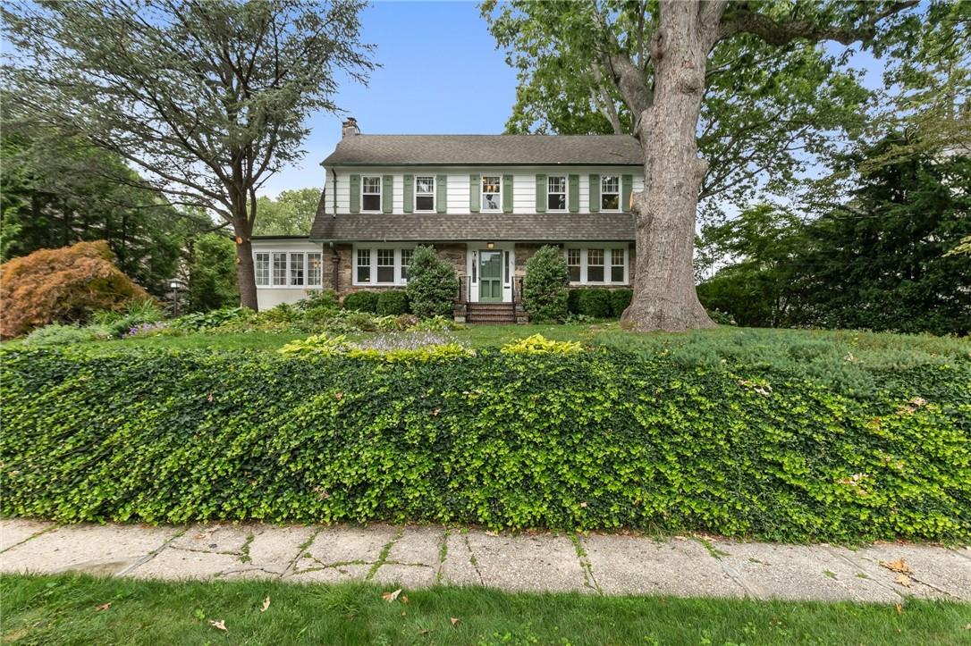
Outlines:
<svg viewBox="0 0 971 646"><path fill-rule="evenodd" d="M28 118L83 134L174 203L236 237L256 307L256 191L302 156L306 116L336 112L336 73L364 81L361 0L77 0L4 5L4 66ZM124 178L118 178L124 181Z"/></svg>

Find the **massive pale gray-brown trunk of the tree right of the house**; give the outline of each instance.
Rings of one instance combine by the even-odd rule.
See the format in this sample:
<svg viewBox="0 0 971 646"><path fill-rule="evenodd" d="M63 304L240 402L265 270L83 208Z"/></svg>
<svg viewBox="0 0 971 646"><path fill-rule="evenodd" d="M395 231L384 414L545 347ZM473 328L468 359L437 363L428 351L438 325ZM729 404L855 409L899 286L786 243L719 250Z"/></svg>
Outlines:
<svg viewBox="0 0 971 646"><path fill-rule="evenodd" d="M636 133L645 162L644 191L632 206L634 298L621 317L642 332L715 327L698 301L691 266L698 192L708 169L696 143L711 47L701 22L697 2L661 2L653 103Z"/></svg>

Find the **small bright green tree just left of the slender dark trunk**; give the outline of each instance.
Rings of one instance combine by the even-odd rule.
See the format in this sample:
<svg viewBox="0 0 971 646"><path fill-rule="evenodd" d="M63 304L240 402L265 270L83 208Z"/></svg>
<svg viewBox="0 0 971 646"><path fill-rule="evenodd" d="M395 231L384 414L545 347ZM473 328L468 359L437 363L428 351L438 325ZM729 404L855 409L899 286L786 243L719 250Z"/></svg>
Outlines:
<svg viewBox="0 0 971 646"><path fill-rule="evenodd" d="M188 303L193 311L208 311L239 303L233 241L210 233L192 242L188 263Z"/></svg>

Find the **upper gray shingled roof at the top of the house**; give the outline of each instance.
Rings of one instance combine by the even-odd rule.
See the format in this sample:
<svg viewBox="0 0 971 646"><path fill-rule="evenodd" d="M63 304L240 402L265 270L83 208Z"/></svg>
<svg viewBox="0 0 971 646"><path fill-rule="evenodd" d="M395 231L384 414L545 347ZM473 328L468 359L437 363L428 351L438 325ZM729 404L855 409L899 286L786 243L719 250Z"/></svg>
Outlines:
<svg viewBox="0 0 971 646"><path fill-rule="evenodd" d="M350 135L323 166L641 165L629 135Z"/></svg>

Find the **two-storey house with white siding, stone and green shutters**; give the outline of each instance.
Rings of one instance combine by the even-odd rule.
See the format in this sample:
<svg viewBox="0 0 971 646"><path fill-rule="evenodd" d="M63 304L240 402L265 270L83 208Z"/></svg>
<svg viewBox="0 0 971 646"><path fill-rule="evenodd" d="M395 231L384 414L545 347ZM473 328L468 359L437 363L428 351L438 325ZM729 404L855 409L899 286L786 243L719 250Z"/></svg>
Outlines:
<svg viewBox="0 0 971 646"><path fill-rule="evenodd" d="M515 316L526 260L563 249L571 284L633 278L630 196L643 155L629 136L362 135L353 118L323 160L307 238L254 238L259 307L307 290L401 289L431 244L460 279L457 315Z"/></svg>

